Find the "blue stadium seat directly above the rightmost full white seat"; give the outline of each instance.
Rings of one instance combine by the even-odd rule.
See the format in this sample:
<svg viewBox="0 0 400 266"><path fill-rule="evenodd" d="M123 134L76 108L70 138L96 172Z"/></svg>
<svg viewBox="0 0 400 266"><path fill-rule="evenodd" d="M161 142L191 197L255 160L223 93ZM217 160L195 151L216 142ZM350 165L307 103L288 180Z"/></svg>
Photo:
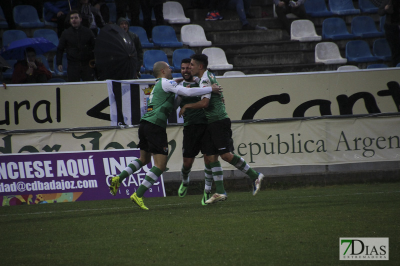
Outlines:
<svg viewBox="0 0 400 266"><path fill-rule="evenodd" d="M355 36L347 30L346 22L340 17L325 18L322 22L323 39L353 39Z"/></svg>

